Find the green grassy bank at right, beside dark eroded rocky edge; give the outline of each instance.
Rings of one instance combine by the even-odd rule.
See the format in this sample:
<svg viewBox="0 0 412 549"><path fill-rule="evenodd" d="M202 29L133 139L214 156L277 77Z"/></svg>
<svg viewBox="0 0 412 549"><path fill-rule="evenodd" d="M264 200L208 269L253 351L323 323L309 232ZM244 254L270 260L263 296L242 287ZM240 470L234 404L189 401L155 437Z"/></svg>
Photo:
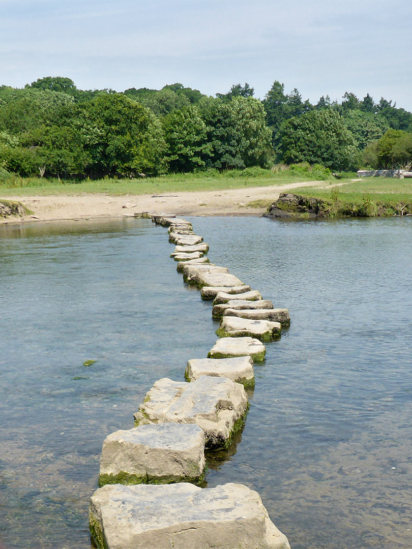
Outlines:
<svg viewBox="0 0 412 549"><path fill-rule="evenodd" d="M330 183L330 188L293 189L294 194L326 200L330 216L337 215L400 215L412 213L412 179L369 177L357 181Z"/></svg>

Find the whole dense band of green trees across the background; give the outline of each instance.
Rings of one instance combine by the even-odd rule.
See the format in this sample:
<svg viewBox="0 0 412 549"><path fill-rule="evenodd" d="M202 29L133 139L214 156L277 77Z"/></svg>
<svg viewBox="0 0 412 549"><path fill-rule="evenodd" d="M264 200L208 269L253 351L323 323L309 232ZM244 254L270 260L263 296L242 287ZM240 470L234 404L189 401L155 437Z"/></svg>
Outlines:
<svg viewBox="0 0 412 549"><path fill-rule="evenodd" d="M0 87L0 170L20 176L139 177L166 172L320 164L410 168L412 113L346 92L315 105L275 81L265 98L246 83L216 97L180 83L84 91L46 77Z"/></svg>

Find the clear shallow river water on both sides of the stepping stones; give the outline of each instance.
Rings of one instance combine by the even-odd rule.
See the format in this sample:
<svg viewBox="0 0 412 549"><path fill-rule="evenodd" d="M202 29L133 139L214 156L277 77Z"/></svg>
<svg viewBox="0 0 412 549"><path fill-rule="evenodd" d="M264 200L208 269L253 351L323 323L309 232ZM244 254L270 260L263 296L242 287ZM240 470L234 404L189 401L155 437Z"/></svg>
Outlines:
<svg viewBox="0 0 412 549"><path fill-rule="evenodd" d="M292 549L412 546L411 219L192 222L212 261L292 318L208 485L258 490ZM7 549L89 549L105 436L214 344L210 303L172 249L147 220L0 227Z"/></svg>

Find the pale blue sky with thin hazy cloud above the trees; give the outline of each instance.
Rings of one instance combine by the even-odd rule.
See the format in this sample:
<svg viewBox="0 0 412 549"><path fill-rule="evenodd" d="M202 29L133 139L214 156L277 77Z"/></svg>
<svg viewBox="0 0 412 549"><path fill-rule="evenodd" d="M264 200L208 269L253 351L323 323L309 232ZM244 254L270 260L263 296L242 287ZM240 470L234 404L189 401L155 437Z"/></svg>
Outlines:
<svg viewBox="0 0 412 549"><path fill-rule="evenodd" d="M275 80L303 99L370 93L412 111L412 0L0 0L0 85L181 82L214 96Z"/></svg>

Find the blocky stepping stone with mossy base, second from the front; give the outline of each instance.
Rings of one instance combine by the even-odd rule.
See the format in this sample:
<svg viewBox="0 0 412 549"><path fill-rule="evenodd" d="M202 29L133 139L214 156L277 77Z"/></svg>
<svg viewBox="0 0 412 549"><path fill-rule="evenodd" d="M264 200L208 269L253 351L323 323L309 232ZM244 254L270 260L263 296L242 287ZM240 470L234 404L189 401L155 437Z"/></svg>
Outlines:
<svg viewBox="0 0 412 549"><path fill-rule="evenodd" d="M201 483L204 442L196 424L161 423L116 431L103 442L99 486Z"/></svg>

